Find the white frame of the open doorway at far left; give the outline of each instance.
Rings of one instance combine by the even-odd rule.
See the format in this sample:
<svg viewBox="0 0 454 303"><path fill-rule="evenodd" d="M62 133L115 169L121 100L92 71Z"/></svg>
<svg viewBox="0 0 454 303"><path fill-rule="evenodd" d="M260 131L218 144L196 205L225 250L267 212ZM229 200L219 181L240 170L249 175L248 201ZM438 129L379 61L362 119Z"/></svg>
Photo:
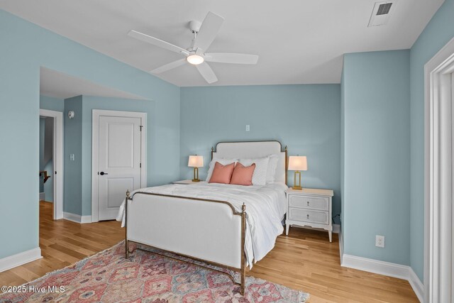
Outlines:
<svg viewBox="0 0 454 303"><path fill-rule="evenodd" d="M52 181L54 182L54 220L63 218L63 113L40 109L40 116L54 119Z"/></svg>

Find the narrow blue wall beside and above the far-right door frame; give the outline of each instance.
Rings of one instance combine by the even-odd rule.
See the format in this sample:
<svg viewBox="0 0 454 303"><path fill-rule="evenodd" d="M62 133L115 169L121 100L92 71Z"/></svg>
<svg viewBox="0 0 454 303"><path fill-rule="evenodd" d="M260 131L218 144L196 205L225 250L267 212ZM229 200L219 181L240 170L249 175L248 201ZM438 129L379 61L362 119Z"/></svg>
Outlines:
<svg viewBox="0 0 454 303"><path fill-rule="evenodd" d="M454 37L454 0L445 0L410 53L411 268L423 280L424 265L424 65Z"/></svg>

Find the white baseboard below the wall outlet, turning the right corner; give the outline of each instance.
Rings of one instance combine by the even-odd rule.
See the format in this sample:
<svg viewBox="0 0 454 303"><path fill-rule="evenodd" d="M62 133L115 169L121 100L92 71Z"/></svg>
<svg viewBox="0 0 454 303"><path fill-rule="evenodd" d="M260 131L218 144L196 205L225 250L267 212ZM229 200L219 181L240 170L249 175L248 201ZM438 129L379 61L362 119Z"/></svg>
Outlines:
<svg viewBox="0 0 454 303"><path fill-rule="evenodd" d="M341 265L345 268L355 268L366 272L374 272L379 275L387 275L389 277L397 277L399 279L408 280L413 288L416 297L420 302L423 302L423 284L418 276L407 265L389 263L380 260L357 257L355 255L341 255Z"/></svg>

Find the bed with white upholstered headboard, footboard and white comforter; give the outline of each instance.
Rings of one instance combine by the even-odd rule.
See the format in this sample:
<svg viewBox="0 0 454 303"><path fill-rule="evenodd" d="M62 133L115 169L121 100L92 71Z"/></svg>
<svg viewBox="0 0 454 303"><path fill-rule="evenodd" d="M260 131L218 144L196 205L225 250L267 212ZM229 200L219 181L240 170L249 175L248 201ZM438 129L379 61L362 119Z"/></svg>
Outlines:
<svg viewBox="0 0 454 303"><path fill-rule="evenodd" d="M275 182L244 187L231 184L169 184L126 193L118 213L129 243L158 248L240 273L263 258L282 233L287 211L287 147L278 141L222 142L211 159L277 155ZM210 268L210 270L213 270ZM224 273L224 272L223 272Z"/></svg>

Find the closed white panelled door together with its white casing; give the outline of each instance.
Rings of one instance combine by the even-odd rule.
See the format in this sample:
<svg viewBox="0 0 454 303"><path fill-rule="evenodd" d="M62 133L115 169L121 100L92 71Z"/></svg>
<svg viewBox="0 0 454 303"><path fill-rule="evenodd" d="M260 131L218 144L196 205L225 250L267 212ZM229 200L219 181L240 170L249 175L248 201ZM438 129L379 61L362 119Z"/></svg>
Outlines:
<svg viewBox="0 0 454 303"><path fill-rule="evenodd" d="M146 114L93 110L92 221L115 219L126 189L146 186Z"/></svg>

